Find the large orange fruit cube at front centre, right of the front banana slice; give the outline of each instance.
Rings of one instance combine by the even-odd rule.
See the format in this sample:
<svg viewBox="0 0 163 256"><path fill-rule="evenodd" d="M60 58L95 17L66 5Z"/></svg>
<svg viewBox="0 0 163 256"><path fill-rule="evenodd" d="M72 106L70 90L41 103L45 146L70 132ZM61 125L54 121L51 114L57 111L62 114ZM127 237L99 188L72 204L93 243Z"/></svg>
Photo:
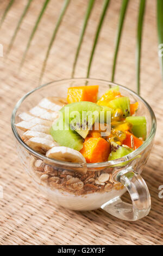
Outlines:
<svg viewBox="0 0 163 256"><path fill-rule="evenodd" d="M87 137L83 143L83 149L80 150L87 163L108 161L110 152L110 143L106 142L103 138L93 137Z"/></svg>

